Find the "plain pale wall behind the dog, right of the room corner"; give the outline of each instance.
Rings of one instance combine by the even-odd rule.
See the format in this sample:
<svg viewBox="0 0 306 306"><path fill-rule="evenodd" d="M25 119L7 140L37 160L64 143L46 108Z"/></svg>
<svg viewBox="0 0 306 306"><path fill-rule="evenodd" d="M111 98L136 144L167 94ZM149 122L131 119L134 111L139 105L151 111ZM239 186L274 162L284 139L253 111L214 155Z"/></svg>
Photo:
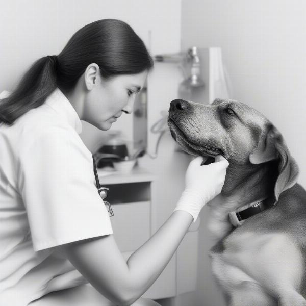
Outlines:
<svg viewBox="0 0 306 306"><path fill-rule="evenodd" d="M303 0L182 0L182 48L222 47L233 98L270 119L282 132L306 187L306 2ZM206 217L206 211L202 213ZM221 306L212 283L202 223L201 305Z"/></svg>

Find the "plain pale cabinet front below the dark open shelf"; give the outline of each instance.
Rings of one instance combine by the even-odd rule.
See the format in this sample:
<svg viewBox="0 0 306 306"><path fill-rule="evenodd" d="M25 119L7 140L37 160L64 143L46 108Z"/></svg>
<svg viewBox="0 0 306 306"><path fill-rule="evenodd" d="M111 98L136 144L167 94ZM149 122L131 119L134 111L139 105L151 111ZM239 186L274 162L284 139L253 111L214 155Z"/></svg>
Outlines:
<svg viewBox="0 0 306 306"><path fill-rule="evenodd" d="M111 223L120 251L133 251L150 238L150 201L112 205Z"/></svg>

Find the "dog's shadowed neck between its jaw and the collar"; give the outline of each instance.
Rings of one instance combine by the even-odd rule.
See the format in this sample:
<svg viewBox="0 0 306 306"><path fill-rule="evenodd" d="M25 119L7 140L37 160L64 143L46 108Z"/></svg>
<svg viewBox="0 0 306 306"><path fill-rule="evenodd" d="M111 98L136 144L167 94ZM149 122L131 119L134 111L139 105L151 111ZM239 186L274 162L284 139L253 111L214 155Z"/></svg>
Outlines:
<svg viewBox="0 0 306 306"><path fill-rule="evenodd" d="M241 165L230 161L222 192L208 203L208 227L216 238L223 238L234 229L228 219L231 211L272 195L276 172L273 163Z"/></svg>

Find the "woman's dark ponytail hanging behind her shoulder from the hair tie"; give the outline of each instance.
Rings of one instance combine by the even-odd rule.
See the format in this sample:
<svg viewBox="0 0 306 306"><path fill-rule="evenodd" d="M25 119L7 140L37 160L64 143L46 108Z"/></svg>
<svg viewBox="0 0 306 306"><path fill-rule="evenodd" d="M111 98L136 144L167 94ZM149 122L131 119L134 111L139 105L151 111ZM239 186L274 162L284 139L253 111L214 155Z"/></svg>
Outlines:
<svg viewBox="0 0 306 306"><path fill-rule="evenodd" d="M11 125L30 109L41 106L56 85L57 56L37 60L25 72L17 88L0 99L0 123Z"/></svg>

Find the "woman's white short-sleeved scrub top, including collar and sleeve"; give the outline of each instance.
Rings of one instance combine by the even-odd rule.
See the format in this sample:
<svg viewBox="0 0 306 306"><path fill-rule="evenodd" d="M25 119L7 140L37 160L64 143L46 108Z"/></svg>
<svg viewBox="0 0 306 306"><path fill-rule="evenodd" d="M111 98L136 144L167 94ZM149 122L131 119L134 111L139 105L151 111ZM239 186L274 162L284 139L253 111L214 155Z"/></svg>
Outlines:
<svg viewBox="0 0 306 306"><path fill-rule="evenodd" d="M53 247L113 233L81 131L58 88L12 126L0 124L0 305L87 283Z"/></svg>

